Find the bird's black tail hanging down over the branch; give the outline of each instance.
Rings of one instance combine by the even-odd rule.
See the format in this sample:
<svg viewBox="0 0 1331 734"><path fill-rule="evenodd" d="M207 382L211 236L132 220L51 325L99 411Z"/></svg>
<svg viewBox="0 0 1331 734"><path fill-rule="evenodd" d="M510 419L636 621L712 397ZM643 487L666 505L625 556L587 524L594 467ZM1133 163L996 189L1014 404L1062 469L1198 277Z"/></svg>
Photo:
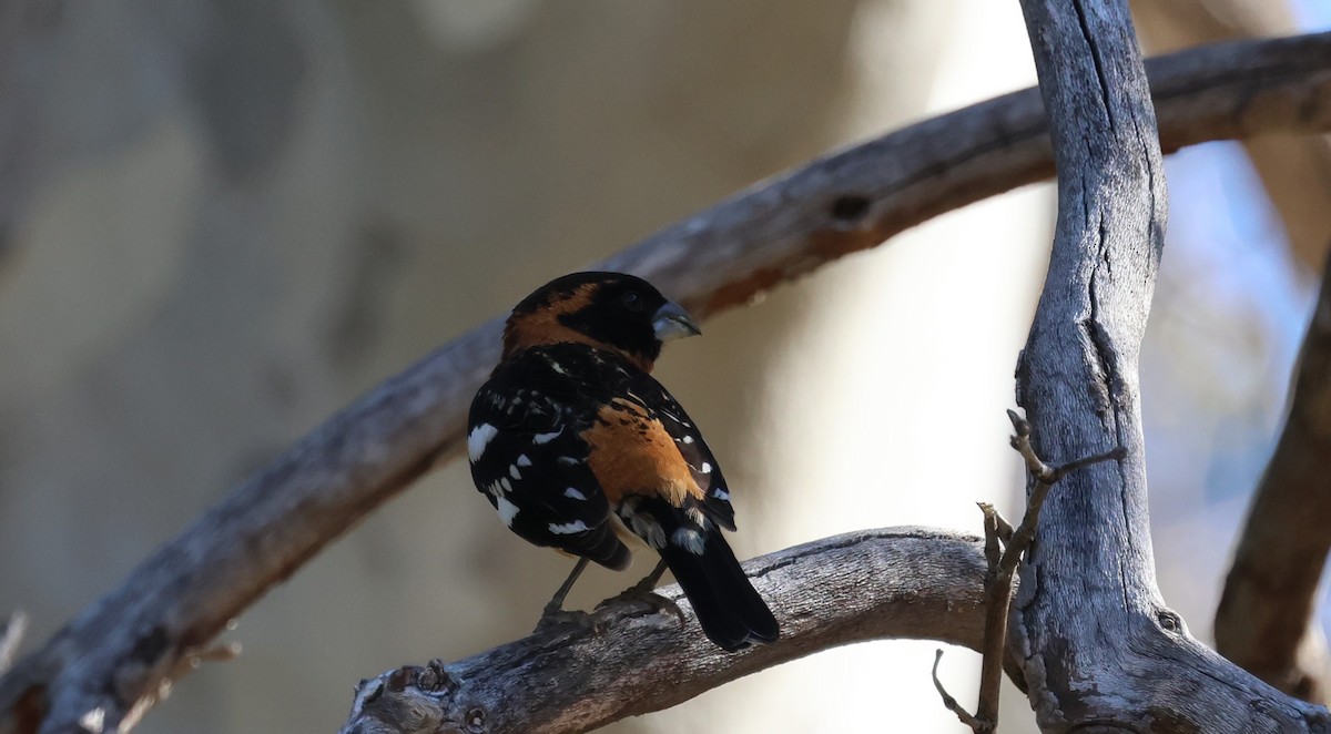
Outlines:
<svg viewBox="0 0 1331 734"><path fill-rule="evenodd" d="M775 642L780 634L776 617L744 576L720 528L713 525L704 535L701 553L671 541L660 549L703 632L727 652Z"/></svg>

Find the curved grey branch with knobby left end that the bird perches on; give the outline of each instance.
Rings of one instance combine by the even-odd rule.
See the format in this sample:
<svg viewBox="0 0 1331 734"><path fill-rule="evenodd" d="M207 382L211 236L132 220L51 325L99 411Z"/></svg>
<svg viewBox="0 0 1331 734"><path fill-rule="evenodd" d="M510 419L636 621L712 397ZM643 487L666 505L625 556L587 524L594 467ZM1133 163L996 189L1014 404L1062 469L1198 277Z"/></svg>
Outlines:
<svg viewBox="0 0 1331 734"><path fill-rule="evenodd" d="M824 539L744 564L777 613L781 640L741 654L697 634L677 585L684 630L639 605L596 614L603 632L532 636L443 665L362 681L343 734L586 731L667 709L721 683L865 640L929 638L972 649L984 626L981 541L929 528Z"/></svg>

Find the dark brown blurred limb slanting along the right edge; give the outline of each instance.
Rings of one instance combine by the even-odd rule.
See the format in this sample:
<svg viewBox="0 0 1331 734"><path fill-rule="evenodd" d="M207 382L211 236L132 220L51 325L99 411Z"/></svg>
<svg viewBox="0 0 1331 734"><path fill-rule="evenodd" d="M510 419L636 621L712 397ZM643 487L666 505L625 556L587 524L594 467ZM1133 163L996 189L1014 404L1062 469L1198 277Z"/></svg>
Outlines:
<svg viewBox="0 0 1331 734"><path fill-rule="evenodd" d="M1331 258L1303 338L1290 415L1258 484L1215 613L1225 657L1308 701L1328 697L1316 609L1331 552Z"/></svg>

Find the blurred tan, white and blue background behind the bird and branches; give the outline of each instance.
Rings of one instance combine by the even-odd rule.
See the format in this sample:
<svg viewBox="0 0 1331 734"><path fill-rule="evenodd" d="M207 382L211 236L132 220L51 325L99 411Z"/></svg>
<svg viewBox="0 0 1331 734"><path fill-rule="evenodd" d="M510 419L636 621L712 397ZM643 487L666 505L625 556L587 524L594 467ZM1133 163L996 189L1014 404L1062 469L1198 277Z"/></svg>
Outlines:
<svg viewBox="0 0 1331 734"><path fill-rule="evenodd" d="M1141 3L1150 52L1331 27ZM0 8L0 614L27 649L378 380L544 281L829 148L1034 84L992 0L140 0ZM1143 355L1166 600L1209 637L1331 238L1326 140L1167 162ZM1013 507L1053 189L941 217L668 350L741 557ZM643 564L639 564L642 570ZM530 630L568 561L454 464L238 620L145 733L331 731L365 675ZM596 570L594 604L636 580ZM369 630L369 633L367 633ZM956 731L932 642L845 648L636 731ZM973 701L978 658L944 658ZM1005 730L1030 731L1006 693Z"/></svg>

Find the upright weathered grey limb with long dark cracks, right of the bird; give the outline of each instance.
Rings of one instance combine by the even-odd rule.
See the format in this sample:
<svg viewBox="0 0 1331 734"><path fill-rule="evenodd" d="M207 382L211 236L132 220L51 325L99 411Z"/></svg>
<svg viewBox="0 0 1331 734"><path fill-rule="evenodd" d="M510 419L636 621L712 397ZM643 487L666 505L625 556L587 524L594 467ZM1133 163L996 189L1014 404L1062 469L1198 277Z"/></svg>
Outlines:
<svg viewBox="0 0 1331 734"><path fill-rule="evenodd" d="M1018 403L1040 455L1127 456L1065 479L1022 569L1014 649L1045 731L1331 725L1193 640L1155 586L1138 350L1165 180L1126 0L1024 0L1058 166L1058 225Z"/></svg>

